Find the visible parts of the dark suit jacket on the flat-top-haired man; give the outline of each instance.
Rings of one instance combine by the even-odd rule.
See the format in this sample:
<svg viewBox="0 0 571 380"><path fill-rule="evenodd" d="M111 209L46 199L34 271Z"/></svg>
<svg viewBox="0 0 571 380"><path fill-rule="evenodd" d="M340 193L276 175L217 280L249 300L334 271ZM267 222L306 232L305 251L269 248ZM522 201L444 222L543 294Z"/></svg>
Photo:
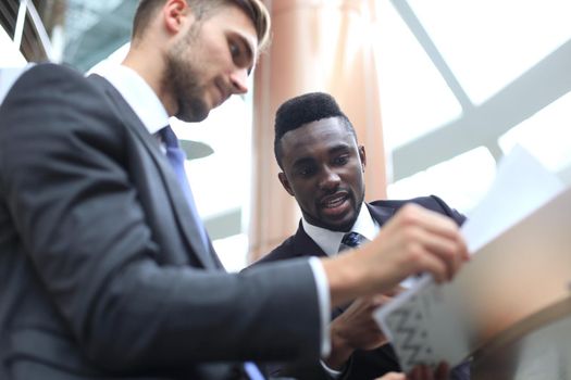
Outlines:
<svg viewBox="0 0 571 380"><path fill-rule="evenodd" d="M367 203L371 216L382 227L402 205L413 202L420 204L429 210L451 217L458 225L461 225L466 217L459 214L456 210L450 208L443 200L435 195L422 197L406 201L375 201ZM268 255L260 258L255 266L259 264L282 261L294 257L302 257L307 255L325 256L325 252L311 239L303 230L301 221L296 235L287 238L280 246L274 249ZM344 308L339 307L333 311L332 319L343 313ZM300 365L295 368L289 366L278 367L280 371L291 371L299 378L313 378L315 372L321 370L321 366ZM467 373L468 368L455 370L452 376L458 379L469 378ZM344 373L344 379L374 379L389 371L400 371L400 366L393 347L385 344L373 351L357 351L350 362L349 367Z"/></svg>

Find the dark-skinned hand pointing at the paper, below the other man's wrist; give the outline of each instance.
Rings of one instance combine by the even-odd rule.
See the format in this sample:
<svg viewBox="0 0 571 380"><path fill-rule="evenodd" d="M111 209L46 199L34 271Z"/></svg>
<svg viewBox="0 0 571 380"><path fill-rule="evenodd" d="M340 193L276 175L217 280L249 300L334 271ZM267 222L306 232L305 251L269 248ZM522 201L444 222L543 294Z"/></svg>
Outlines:
<svg viewBox="0 0 571 380"><path fill-rule="evenodd" d="M390 301L399 287L385 294L357 299L330 325L331 355L324 363L332 369L339 370L355 350L374 350L386 343L386 338L373 318L373 312Z"/></svg>

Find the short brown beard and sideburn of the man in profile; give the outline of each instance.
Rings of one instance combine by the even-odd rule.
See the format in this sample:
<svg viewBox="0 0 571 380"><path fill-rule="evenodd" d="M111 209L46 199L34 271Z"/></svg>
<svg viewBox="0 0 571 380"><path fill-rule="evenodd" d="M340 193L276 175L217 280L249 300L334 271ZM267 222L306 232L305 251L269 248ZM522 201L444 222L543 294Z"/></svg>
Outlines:
<svg viewBox="0 0 571 380"><path fill-rule="evenodd" d="M207 118L210 110L202 99L199 74L195 67L191 49L200 34L200 24L194 24L166 54L162 84L176 101L177 113L175 116L183 122L201 122Z"/></svg>

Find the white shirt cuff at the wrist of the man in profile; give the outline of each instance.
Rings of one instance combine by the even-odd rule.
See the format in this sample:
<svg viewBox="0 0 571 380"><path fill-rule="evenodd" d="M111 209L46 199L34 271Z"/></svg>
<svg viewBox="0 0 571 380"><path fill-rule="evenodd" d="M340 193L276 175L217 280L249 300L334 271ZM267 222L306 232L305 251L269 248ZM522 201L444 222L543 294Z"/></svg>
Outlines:
<svg viewBox="0 0 571 380"><path fill-rule="evenodd" d="M331 294L330 281L325 275L325 269L321 259L318 257L310 257L309 265L313 271L315 286L318 289L318 302L321 319L321 357L327 357L331 354L331 337L330 337L330 320L331 320Z"/></svg>

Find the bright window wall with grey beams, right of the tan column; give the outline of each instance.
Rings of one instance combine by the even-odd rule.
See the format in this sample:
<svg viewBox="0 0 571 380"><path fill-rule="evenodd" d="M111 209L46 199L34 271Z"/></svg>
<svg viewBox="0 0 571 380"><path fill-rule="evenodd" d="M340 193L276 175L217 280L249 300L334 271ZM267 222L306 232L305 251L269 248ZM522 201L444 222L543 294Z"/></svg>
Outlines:
<svg viewBox="0 0 571 380"><path fill-rule="evenodd" d="M434 193L467 211L491 183L496 160L514 143L571 182L571 142L566 138L571 96L544 107L554 93L533 92L532 81L522 80L534 67L534 80L541 80L537 67L543 66L537 64L555 59L550 54L570 43L571 2L378 0L377 4L386 150L406 152L406 160L413 162L394 161L395 174L420 172L396 178L388 187L389 198ZM562 55L546 73L551 81L569 76L569 61ZM508 86L519 93L499 92ZM495 97L498 93L501 97ZM442 128L450 125L455 128ZM443 152L435 152L435 147ZM466 152L454 156L456 150L450 149L454 153L438 164L440 159L431 154L446 156L446 147L466 147Z"/></svg>

